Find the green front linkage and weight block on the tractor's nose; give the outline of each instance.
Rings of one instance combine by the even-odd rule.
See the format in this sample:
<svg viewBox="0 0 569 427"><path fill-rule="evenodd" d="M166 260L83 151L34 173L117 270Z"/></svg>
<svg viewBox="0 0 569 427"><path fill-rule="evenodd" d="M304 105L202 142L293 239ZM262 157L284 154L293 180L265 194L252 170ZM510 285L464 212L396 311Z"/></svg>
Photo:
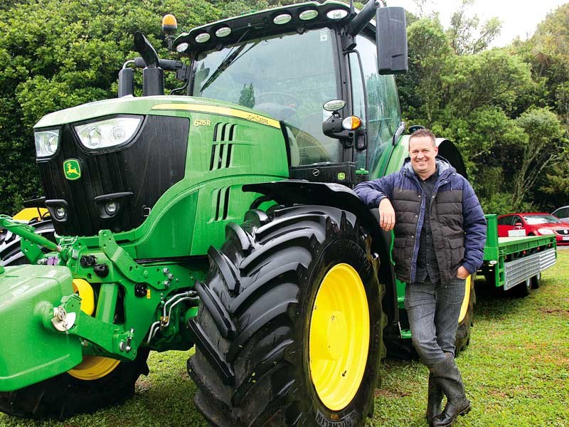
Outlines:
<svg viewBox="0 0 569 427"><path fill-rule="evenodd" d="M195 280L203 278L203 269L175 263L141 265L108 230L100 231L98 239L64 237L53 243L9 216L0 216L0 227L21 236L21 249L34 264L0 269L0 306L9 302L2 312L11 315L5 318L18 317L24 306L33 311L0 329L12 337L52 343L54 337L46 335L60 336L55 341L59 351L46 351L43 357L42 366L49 369L35 369L32 360L22 361L6 349L3 353L13 357L6 357L6 372L0 372L0 391L62 374L85 355L129 362L136 359L141 345L160 350L193 345L183 325L197 314L198 298L192 288ZM38 323L43 325L41 332Z"/></svg>

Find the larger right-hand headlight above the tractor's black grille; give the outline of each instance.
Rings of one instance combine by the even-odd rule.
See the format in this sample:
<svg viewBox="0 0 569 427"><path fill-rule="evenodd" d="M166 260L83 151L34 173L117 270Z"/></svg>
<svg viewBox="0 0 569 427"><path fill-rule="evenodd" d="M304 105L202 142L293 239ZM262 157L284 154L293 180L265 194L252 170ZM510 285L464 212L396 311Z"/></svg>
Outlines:
<svg viewBox="0 0 569 427"><path fill-rule="evenodd" d="M129 142L142 123L140 116L112 117L100 122L75 125L74 129L87 149L105 149Z"/></svg>

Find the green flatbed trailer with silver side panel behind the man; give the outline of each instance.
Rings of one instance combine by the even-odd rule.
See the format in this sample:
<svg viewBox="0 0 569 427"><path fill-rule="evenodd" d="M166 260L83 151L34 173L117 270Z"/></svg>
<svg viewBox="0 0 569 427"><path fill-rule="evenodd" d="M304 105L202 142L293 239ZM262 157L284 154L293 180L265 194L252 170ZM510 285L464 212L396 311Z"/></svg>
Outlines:
<svg viewBox="0 0 569 427"><path fill-rule="evenodd" d="M488 232L479 273L486 284L528 295L539 286L541 272L557 260L555 236L498 237L496 215L486 215Z"/></svg>

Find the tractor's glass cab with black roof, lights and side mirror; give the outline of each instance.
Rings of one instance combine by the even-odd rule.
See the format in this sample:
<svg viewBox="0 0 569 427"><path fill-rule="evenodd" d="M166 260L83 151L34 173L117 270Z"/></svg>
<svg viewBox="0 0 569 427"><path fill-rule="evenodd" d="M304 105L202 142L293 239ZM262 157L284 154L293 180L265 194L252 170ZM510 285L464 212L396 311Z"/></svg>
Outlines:
<svg viewBox="0 0 569 427"><path fill-rule="evenodd" d="M192 60L188 95L280 120L292 178L366 179L403 131L393 73L407 69L404 11L376 7L309 2L183 33L173 44ZM331 100L344 102L334 111Z"/></svg>

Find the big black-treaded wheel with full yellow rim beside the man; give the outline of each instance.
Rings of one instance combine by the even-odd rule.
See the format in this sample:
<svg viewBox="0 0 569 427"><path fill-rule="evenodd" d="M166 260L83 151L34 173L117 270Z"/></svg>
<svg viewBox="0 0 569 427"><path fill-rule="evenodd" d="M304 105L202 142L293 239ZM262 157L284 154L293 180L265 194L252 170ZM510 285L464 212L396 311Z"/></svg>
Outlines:
<svg viewBox="0 0 569 427"><path fill-rule="evenodd" d="M383 287L356 216L294 206L230 224L188 322L195 403L215 426L361 426L384 352Z"/></svg>

